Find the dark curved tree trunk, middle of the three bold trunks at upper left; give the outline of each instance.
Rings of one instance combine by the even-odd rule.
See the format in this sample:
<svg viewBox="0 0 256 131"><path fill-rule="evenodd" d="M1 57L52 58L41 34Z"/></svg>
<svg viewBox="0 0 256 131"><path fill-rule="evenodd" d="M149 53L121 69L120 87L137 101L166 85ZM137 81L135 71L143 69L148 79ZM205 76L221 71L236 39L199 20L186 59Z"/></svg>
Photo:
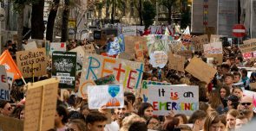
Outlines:
<svg viewBox="0 0 256 131"><path fill-rule="evenodd" d="M46 30L46 40L53 41L53 29L54 23L58 11L60 0L54 0L53 6L49 11L48 22L47 22L47 30Z"/></svg>

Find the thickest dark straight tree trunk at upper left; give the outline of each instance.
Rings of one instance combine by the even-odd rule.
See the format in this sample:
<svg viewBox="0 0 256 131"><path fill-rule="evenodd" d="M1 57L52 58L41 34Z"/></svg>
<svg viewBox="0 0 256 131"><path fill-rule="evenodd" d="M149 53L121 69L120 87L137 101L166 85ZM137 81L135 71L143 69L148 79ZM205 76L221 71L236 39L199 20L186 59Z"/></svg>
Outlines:
<svg viewBox="0 0 256 131"><path fill-rule="evenodd" d="M43 8L44 0L38 0L32 5L31 15L31 38L43 40L44 24L43 24Z"/></svg>

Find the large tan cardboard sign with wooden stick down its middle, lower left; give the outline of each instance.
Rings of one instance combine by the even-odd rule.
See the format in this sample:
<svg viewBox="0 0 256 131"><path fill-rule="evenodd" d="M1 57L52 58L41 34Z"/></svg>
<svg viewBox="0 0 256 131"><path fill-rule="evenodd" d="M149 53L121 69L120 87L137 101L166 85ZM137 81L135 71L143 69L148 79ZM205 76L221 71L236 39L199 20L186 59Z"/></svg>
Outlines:
<svg viewBox="0 0 256 131"><path fill-rule="evenodd" d="M28 84L24 130L49 130L55 127L58 80L50 78Z"/></svg>

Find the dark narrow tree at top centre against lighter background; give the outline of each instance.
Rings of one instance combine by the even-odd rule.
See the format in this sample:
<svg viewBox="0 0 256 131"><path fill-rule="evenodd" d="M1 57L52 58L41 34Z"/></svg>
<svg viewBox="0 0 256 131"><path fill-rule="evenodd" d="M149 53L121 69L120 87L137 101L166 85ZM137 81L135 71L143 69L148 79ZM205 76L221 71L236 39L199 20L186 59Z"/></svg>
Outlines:
<svg viewBox="0 0 256 131"><path fill-rule="evenodd" d="M145 28L148 28L150 25L154 23L154 17L155 17L154 4L150 3L149 1L145 1L143 3L142 17L143 17Z"/></svg>

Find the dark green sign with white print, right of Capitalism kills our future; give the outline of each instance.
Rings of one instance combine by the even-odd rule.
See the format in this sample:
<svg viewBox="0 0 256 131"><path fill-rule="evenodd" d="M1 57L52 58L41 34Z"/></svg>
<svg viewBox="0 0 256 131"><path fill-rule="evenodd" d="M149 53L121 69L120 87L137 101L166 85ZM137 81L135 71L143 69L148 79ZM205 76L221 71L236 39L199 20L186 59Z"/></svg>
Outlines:
<svg viewBox="0 0 256 131"><path fill-rule="evenodd" d="M60 79L60 88L75 88L76 53L52 53L52 77Z"/></svg>

